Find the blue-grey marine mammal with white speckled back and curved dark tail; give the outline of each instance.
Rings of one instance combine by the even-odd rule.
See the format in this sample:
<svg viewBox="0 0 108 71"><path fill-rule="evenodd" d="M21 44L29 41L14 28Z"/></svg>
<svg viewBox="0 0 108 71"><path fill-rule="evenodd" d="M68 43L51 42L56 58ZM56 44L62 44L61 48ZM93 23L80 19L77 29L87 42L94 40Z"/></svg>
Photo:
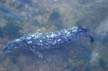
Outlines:
<svg viewBox="0 0 108 71"><path fill-rule="evenodd" d="M4 47L4 52L13 52L14 50L31 52L63 48L74 44L75 41L81 40L81 37L89 38L93 42L93 36L90 32L82 27L73 27L57 32L35 33L23 36L21 38L9 41Z"/></svg>

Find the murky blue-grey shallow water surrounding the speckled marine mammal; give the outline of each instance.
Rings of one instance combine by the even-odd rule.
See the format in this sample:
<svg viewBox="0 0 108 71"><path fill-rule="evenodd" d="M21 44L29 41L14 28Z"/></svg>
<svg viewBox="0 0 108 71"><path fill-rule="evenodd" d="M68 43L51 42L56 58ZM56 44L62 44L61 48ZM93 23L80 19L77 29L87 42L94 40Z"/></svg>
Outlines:
<svg viewBox="0 0 108 71"><path fill-rule="evenodd" d="M107 11L107 0L0 0L0 71L107 71ZM64 48L35 54L2 51L8 42L22 36L74 26L86 28L94 42L81 37L60 45Z"/></svg>

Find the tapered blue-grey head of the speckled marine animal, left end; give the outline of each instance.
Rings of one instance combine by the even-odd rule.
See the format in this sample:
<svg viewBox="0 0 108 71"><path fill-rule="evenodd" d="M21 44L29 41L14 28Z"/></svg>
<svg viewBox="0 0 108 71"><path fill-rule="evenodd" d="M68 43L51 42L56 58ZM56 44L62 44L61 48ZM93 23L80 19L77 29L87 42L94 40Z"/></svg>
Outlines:
<svg viewBox="0 0 108 71"><path fill-rule="evenodd" d="M17 53L29 53L31 52L30 50L27 49L27 46L25 44L25 41L23 41L21 38L16 39L14 41L9 41L4 49L3 52L7 53L7 54L17 54Z"/></svg>

